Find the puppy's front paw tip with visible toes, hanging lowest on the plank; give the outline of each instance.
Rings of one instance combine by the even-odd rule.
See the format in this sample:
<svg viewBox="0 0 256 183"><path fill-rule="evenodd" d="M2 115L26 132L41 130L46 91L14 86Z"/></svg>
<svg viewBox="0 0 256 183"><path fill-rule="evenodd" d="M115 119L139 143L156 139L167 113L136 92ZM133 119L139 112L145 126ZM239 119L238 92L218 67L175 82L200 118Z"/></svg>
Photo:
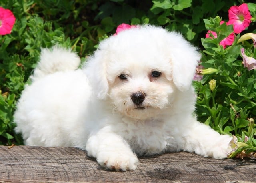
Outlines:
<svg viewBox="0 0 256 183"><path fill-rule="evenodd" d="M97 161L102 167L116 171L135 170L138 165L138 158L132 152L101 152L97 156Z"/></svg>

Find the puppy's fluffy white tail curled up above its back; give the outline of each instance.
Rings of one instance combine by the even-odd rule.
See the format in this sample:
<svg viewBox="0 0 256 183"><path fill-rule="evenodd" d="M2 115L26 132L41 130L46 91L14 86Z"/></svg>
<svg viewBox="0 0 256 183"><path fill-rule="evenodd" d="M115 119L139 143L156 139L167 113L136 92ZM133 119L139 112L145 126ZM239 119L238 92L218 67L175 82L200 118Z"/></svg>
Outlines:
<svg viewBox="0 0 256 183"><path fill-rule="evenodd" d="M79 64L80 57L71 49L61 48L60 46L54 46L50 49L43 48L40 60L31 78L36 80L54 72L76 70Z"/></svg>

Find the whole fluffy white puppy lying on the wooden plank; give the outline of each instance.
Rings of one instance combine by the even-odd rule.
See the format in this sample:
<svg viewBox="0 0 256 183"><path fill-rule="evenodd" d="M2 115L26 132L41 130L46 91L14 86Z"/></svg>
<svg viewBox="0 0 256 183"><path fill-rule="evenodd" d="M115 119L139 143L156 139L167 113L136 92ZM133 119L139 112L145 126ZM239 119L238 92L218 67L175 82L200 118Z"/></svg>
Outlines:
<svg viewBox="0 0 256 183"><path fill-rule="evenodd" d="M176 32L140 26L99 44L82 69L70 50L42 50L14 115L26 145L78 147L107 169L136 155L188 151L222 159L232 137L196 120L197 49Z"/></svg>

